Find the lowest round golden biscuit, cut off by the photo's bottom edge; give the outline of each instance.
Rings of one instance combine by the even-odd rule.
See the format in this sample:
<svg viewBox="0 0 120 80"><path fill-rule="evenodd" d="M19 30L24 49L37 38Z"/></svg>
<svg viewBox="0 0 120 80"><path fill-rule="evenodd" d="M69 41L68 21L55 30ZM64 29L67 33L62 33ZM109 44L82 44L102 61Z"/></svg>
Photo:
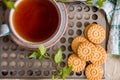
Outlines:
<svg viewBox="0 0 120 80"><path fill-rule="evenodd" d="M88 80L101 80L103 77L103 67L90 64L85 69L85 75Z"/></svg>

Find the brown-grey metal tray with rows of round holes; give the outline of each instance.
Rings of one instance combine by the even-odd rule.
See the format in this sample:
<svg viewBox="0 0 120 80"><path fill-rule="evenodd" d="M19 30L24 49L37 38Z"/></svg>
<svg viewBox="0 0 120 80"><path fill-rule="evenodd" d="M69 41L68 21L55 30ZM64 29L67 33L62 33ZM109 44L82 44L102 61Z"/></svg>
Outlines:
<svg viewBox="0 0 120 80"><path fill-rule="evenodd" d="M83 36L83 30L90 23L100 24L107 30L105 15L96 7L89 7L81 2L65 3L68 11L68 27L64 36L53 47L47 50L53 57L56 50L61 47L63 50L63 62L58 65L60 68L67 65L67 58L73 52L71 42L76 36ZM4 16L2 16L4 15ZM8 22L9 10L3 11L0 6L0 24ZM101 44L106 49L107 38ZM50 79L52 74L56 74L55 65L46 59L38 61L28 59L32 51L25 50L16 45L9 36L0 38L0 78L19 79ZM89 62L87 62L87 65ZM86 65L86 66L87 66ZM103 64L105 74L105 64ZM72 72L68 79L86 79L84 70L79 73ZM105 75L103 76L105 79Z"/></svg>

